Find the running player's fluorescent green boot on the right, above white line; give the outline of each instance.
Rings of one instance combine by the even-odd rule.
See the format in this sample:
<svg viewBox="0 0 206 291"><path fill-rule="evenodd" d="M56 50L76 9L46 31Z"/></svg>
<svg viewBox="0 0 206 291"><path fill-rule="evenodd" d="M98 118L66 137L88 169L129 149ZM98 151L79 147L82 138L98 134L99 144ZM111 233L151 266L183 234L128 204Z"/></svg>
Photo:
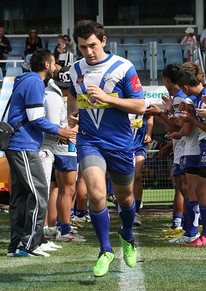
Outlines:
<svg viewBox="0 0 206 291"><path fill-rule="evenodd" d="M118 238L122 242L123 247L123 258L126 265L130 268L133 268L137 264L137 249L135 247L135 242L127 242L122 238L121 229L118 231Z"/></svg>

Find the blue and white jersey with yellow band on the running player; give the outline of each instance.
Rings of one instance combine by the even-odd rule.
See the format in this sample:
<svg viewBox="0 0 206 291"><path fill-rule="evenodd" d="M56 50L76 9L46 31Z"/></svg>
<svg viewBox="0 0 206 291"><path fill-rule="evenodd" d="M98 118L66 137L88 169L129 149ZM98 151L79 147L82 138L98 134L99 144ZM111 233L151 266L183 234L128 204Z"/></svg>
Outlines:
<svg viewBox="0 0 206 291"><path fill-rule="evenodd" d="M131 62L111 53L98 64L82 60L70 69L70 92L77 97L80 133L76 147L90 144L100 149L124 151L133 148L133 135L128 113L113 105L90 98L86 88L99 86L116 98L144 99L144 92Z"/></svg>

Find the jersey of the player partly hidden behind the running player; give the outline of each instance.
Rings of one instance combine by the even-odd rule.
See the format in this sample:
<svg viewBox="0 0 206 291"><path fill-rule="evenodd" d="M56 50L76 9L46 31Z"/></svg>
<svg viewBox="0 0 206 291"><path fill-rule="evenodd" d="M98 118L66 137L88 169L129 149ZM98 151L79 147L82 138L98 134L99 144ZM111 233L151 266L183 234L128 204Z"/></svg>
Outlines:
<svg viewBox="0 0 206 291"><path fill-rule="evenodd" d="M145 99L146 109L150 107L150 100L148 98ZM135 149L141 147L144 144L144 137L146 135L146 114L138 115L138 114L128 114L130 121L134 123L134 127L132 127L133 132L133 140Z"/></svg>

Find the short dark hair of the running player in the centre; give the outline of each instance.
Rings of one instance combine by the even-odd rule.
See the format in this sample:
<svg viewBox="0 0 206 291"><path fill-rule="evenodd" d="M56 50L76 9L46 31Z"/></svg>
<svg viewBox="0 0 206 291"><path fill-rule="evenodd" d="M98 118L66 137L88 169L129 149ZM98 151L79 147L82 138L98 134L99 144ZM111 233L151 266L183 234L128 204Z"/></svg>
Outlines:
<svg viewBox="0 0 206 291"><path fill-rule="evenodd" d="M78 38L87 40L92 34L102 42L104 36L103 25L91 20L78 21L73 29L73 40L78 45Z"/></svg>

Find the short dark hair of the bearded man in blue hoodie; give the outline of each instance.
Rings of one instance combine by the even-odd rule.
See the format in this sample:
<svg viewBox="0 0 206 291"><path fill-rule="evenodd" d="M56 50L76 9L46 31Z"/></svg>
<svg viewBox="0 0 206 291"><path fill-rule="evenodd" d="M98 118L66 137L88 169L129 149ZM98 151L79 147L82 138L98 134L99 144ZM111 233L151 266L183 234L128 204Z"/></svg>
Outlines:
<svg viewBox="0 0 206 291"><path fill-rule="evenodd" d="M52 55L54 53L49 49L37 49L34 51L32 58L30 59L30 65L33 72L43 71L45 69L45 62L52 63Z"/></svg>

